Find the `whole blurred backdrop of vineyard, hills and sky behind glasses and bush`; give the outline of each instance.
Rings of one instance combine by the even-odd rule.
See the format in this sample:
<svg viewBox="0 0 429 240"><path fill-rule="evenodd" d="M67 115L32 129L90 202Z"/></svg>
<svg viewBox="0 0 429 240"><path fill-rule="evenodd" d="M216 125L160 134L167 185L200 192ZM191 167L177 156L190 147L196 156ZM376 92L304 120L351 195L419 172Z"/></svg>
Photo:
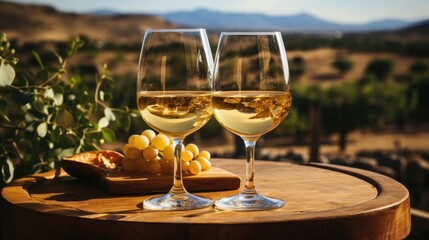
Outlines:
<svg viewBox="0 0 429 240"><path fill-rule="evenodd" d="M0 2L0 32L20 58L17 69L38 66L31 51L45 64L55 62L52 51L80 36L85 45L70 59L69 72L94 87L107 64L116 82L112 107L136 108L145 29L179 27L206 28L213 54L221 31L282 32L293 108L258 142L258 159L376 171L401 181L412 206L429 211L427 0ZM140 117L129 131L113 126L116 141L104 146L120 149L145 128ZM187 141L215 157L243 157L241 141L214 119ZM410 239L426 233L413 230Z"/></svg>

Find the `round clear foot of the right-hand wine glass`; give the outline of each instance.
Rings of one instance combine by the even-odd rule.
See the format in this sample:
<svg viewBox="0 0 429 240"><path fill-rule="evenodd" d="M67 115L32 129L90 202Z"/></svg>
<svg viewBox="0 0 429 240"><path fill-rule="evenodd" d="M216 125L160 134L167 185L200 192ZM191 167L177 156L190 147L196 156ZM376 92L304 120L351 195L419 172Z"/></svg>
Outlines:
<svg viewBox="0 0 429 240"><path fill-rule="evenodd" d="M240 193L231 197L219 199L215 206L222 210L234 211L260 211L281 208L285 202L280 199L266 197L259 193L246 194Z"/></svg>

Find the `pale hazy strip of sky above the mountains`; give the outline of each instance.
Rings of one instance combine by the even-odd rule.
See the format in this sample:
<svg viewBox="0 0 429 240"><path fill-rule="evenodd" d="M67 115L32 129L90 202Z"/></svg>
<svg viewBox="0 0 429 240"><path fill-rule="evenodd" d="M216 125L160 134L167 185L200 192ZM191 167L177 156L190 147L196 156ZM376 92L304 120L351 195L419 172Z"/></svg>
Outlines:
<svg viewBox="0 0 429 240"><path fill-rule="evenodd" d="M309 13L337 23L383 19L429 19L429 0L8 0L47 4L66 12L109 9L123 13L167 13L199 8L287 16Z"/></svg>

